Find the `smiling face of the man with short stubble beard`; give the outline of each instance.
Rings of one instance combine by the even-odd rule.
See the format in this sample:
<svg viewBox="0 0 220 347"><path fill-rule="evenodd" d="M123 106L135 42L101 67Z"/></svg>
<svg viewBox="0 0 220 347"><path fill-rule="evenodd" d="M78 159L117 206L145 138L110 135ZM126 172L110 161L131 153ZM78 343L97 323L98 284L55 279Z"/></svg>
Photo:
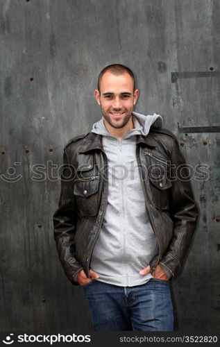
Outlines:
<svg viewBox="0 0 220 347"><path fill-rule="evenodd" d="M138 90L134 92L133 87L133 79L127 72L115 76L106 71L101 78L100 93L95 90L103 117L113 128L126 126L132 115L139 94Z"/></svg>

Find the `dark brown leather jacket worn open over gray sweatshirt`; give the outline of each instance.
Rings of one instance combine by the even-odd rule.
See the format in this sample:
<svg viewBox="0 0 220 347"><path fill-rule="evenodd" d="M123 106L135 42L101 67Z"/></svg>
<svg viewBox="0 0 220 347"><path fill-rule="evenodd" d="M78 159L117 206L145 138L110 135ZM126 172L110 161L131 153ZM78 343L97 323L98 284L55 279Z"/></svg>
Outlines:
<svg viewBox="0 0 220 347"><path fill-rule="evenodd" d="M160 251L150 262L151 273L160 262L174 276L183 264L198 219L189 171L169 130L151 127L149 135L137 135L136 155L146 211ZM77 284L74 276L76 279L81 269L89 277L90 258L107 205L108 160L102 136L87 133L71 139L63 163L60 200L53 214L54 238L67 278Z"/></svg>

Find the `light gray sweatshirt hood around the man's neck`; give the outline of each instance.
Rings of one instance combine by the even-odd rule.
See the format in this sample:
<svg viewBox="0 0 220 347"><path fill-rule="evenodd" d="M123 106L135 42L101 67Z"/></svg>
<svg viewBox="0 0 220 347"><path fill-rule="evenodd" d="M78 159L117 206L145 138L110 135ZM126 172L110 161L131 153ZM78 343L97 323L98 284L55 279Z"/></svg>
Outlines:
<svg viewBox="0 0 220 347"><path fill-rule="evenodd" d="M152 125L157 128L162 128L163 124L162 116L157 115L156 113L154 113L153 115L143 115L139 112L133 112L132 119L134 128L128 130L128 132L124 135L123 138L128 138L133 135L146 136L148 135ZM103 136L115 137L108 133L108 130L105 128L104 117L102 117L99 121L96 121L96 123L93 124L91 132Z"/></svg>

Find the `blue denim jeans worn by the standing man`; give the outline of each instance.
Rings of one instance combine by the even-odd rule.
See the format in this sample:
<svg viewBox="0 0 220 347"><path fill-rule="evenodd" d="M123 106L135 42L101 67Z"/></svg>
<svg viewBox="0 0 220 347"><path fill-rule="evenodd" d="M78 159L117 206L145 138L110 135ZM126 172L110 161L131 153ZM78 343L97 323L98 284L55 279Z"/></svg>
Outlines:
<svg viewBox="0 0 220 347"><path fill-rule="evenodd" d="M96 331L173 331L169 281L119 287L99 280L83 286Z"/></svg>

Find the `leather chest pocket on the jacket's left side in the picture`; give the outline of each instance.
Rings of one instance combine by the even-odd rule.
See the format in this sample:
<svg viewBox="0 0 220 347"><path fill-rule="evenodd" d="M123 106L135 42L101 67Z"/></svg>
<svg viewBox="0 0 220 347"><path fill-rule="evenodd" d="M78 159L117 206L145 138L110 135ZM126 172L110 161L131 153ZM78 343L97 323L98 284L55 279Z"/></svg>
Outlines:
<svg viewBox="0 0 220 347"><path fill-rule="evenodd" d="M74 179L74 196L78 214L81 216L96 216L98 213L99 176L91 170L92 165L77 172Z"/></svg>

